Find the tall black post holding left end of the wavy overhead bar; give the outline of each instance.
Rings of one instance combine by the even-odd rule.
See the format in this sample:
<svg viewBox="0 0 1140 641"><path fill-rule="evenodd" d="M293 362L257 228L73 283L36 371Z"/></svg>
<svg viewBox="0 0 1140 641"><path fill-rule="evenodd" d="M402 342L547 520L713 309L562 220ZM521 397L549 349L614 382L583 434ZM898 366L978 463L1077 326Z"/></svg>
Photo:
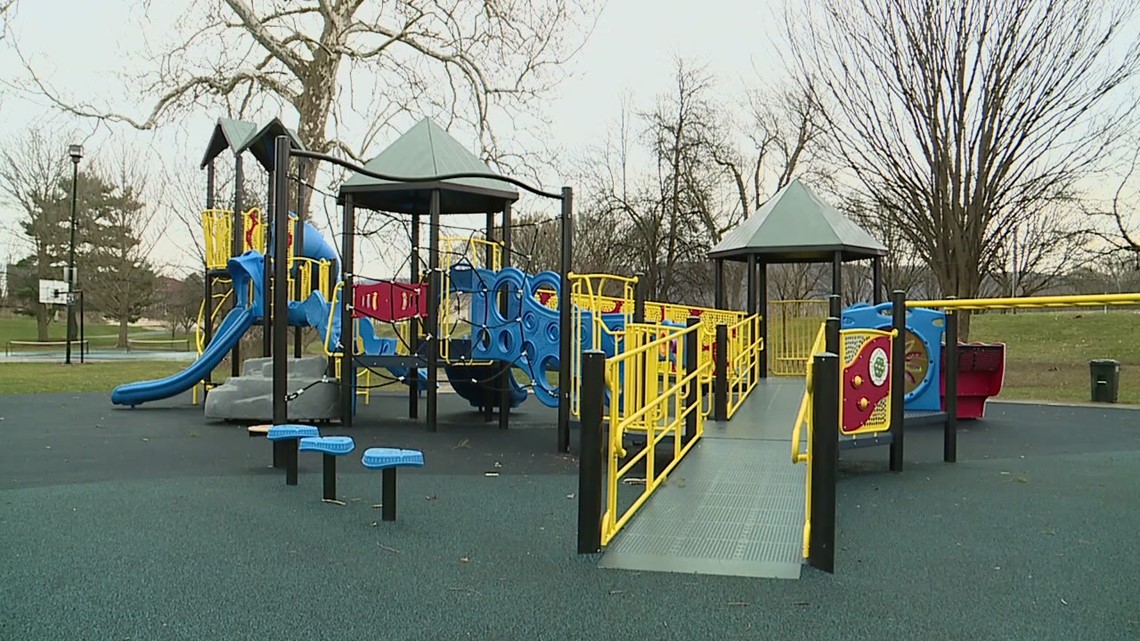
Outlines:
<svg viewBox="0 0 1140 641"><path fill-rule="evenodd" d="M285 322L285 310L288 308L288 265L285 260L288 251L288 165L290 146L288 138L278 136L274 154L274 168L276 169L276 180L274 182L274 282L278 286L274 287L272 309L266 310L266 318L272 322L274 332L274 424L280 425L288 422L288 323ZM267 229L268 230L268 229ZM277 318L274 319L274 316ZM295 466L296 454L293 448L293 461ZM288 485L296 485L296 479Z"/></svg>

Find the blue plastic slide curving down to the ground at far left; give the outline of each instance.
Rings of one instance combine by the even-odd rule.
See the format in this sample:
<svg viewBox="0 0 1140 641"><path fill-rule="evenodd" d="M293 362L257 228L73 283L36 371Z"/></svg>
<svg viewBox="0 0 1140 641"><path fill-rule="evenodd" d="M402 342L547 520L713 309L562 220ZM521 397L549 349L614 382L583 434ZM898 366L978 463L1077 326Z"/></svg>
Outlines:
<svg viewBox="0 0 1140 641"><path fill-rule="evenodd" d="M133 407L182 393L205 379L206 374L212 372L242 340L245 332L258 322L261 316L261 254L246 252L231 258L228 269L234 279L234 291L237 292L237 306L226 315L202 356L172 376L119 386L111 392L112 403ZM255 291L252 302L249 300L250 281L253 281Z"/></svg>

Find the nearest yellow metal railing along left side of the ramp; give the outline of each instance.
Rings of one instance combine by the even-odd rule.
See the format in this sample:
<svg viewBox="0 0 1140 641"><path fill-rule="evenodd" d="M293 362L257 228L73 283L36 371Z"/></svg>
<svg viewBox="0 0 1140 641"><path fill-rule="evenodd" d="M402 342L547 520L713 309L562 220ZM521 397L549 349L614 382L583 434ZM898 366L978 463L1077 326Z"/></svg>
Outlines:
<svg viewBox="0 0 1140 641"><path fill-rule="evenodd" d="M661 330L656 326L654 331ZM671 367L660 358L660 351L674 343L684 344L685 336L698 326L676 327L660 338L628 349L605 362L605 379L610 392L609 445L606 461L605 511L602 514L602 544L606 545L661 486L669 472L684 459L705 430L701 413L701 367L684 362L684 350L677 350L678 366ZM637 333L636 331L634 333ZM633 381L633 391L626 381ZM640 384L648 382L649 384ZM691 386L697 388L697 400L690 399ZM685 423L693 416L697 431L684 441ZM644 435L644 446L632 454L626 451L624 435L637 431ZM657 448L666 438L673 438L673 453L663 465ZM645 470L644 478L626 478L637 466ZM621 505L619 489L641 486L641 493L628 505Z"/></svg>

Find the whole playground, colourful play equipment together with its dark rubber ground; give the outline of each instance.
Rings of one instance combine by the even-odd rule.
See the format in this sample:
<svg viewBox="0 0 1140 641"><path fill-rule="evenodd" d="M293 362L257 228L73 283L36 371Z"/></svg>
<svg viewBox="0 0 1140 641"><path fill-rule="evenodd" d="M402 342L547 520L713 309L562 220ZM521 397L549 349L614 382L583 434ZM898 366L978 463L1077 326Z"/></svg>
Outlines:
<svg viewBox="0 0 1140 641"><path fill-rule="evenodd" d="M263 208L242 180L217 202L225 152L264 170ZM339 243L294 211L304 162L352 172ZM109 398L6 398L14 638L1140 632L1118 370L1099 404L1001 403L1008 347L959 335L1140 294L888 295L885 246L792 180L710 252L711 307L651 300L571 270L570 188L494 175L430 120L358 167L222 119L202 168L196 358ZM557 270L513 265L520 192L557 212ZM408 222L406 278L357 273L358 209ZM486 225L446 235L453 214ZM869 301L840 298L855 261ZM781 262L830 265L834 293L769 301Z"/></svg>

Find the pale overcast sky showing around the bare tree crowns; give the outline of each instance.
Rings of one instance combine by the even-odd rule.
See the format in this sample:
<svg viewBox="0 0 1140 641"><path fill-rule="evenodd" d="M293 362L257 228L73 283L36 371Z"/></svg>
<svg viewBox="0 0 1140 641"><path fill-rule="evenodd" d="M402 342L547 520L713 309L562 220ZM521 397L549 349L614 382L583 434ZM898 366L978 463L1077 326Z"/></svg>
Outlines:
<svg viewBox="0 0 1140 641"><path fill-rule="evenodd" d="M136 92L121 76L149 67L146 46L161 48L163 33L173 27L186 0L150 3L147 29L140 29L139 2L131 0L22 0L13 22L21 50L74 100L90 100L113 109L145 116L148 105L135 103ZM669 89L675 56L703 64L718 86L733 96L757 72L773 68L771 55L774 19L781 0L609 0L596 26L568 67L569 78L546 103L551 148L575 155L602 139L619 113L624 95L644 103ZM66 15L67 19L60 19ZM22 65L15 52L0 48L0 79L11 80ZM152 67L153 68L153 67ZM84 139L89 154L130 149L138 162L160 164L162 171L196 172L212 123L222 113L190 113L155 133L129 127L95 127L52 112L42 99L28 99L0 88L0 143L18 137L27 127L49 123ZM277 114L268 114L269 115ZM292 114L282 114L294 124ZM378 152L388 140L381 140ZM154 169L154 168L152 168ZM548 175L556 190L562 177ZM16 212L0 206L0 228L10 229ZM187 232L169 220L152 236L160 268L178 273L194 267L187 251ZM0 243L0 260L21 255L9 237ZM381 273L394 269L380 257L363 257ZM381 274L386 275L386 274Z"/></svg>

